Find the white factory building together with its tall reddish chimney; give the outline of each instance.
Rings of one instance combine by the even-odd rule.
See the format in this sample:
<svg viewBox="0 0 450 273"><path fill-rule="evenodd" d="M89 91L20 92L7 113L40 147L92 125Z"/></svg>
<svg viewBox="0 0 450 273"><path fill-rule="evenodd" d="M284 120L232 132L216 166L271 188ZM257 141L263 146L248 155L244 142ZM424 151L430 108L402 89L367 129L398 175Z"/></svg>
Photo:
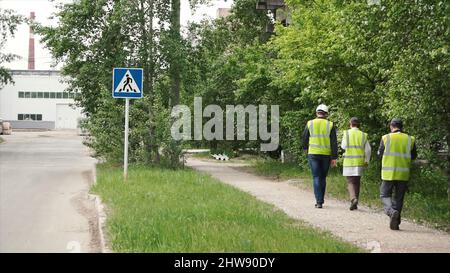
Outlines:
<svg viewBox="0 0 450 273"><path fill-rule="evenodd" d="M34 19L34 12L30 19ZM14 129L76 129L82 111L59 71L36 70L30 29L28 69L11 71L14 84L0 89L0 119Z"/></svg>

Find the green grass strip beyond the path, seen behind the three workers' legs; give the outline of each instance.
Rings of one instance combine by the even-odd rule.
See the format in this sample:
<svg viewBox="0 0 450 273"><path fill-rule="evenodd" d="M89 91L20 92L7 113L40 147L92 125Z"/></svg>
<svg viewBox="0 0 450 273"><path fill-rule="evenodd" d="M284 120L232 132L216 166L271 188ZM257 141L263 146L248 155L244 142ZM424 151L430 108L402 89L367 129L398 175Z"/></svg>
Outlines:
<svg viewBox="0 0 450 273"><path fill-rule="evenodd" d="M299 186L312 190L312 179L308 168L295 164L283 164L275 160L254 161L249 168L252 172L279 180L302 179ZM408 182L409 191L405 197L402 216L426 223L450 232L450 202L447 199L446 176L438 171L415 166ZM360 203L381 209L379 198L381 184L379 163L372 162L361 180ZM327 196L348 200L347 180L342 176L342 168L330 170L327 179Z"/></svg>

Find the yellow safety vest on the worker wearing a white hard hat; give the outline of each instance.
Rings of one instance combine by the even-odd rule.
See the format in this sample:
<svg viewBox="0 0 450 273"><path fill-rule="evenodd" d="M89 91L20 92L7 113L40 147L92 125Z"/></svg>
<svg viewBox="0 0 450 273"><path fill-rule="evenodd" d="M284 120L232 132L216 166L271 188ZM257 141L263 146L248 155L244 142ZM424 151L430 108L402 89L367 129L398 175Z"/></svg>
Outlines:
<svg viewBox="0 0 450 273"><path fill-rule="evenodd" d="M309 147L308 154L331 155L330 132L333 122L316 118L308 121Z"/></svg>

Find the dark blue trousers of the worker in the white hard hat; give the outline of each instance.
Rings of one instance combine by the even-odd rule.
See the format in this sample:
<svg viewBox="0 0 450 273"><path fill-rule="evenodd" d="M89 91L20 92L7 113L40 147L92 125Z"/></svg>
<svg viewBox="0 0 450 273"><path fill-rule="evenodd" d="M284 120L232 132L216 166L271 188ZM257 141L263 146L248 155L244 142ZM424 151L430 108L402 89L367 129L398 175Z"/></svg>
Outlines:
<svg viewBox="0 0 450 273"><path fill-rule="evenodd" d="M308 155L308 162L313 177L314 195L316 197L316 202L317 204L323 204L331 156Z"/></svg>

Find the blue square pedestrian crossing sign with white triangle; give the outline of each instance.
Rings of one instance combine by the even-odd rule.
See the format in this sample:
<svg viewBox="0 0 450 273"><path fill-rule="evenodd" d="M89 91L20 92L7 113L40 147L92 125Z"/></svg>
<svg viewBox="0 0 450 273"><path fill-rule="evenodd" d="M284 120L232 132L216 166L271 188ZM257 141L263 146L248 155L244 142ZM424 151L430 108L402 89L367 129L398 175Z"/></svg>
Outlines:
<svg viewBox="0 0 450 273"><path fill-rule="evenodd" d="M114 68L113 97L114 98L142 98L142 68Z"/></svg>

